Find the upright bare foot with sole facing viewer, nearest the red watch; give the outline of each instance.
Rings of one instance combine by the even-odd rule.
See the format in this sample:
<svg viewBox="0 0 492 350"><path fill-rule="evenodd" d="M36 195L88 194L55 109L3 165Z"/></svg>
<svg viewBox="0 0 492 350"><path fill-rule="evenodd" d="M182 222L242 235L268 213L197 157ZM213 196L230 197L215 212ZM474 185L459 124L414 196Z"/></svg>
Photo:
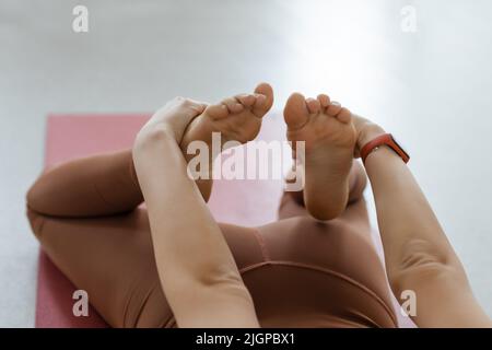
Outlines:
<svg viewBox="0 0 492 350"><path fill-rule="evenodd" d="M316 100L294 93L289 98L284 118L288 139L305 141L304 202L318 220L337 218L349 200L349 174L356 142L352 114L327 95Z"/></svg>

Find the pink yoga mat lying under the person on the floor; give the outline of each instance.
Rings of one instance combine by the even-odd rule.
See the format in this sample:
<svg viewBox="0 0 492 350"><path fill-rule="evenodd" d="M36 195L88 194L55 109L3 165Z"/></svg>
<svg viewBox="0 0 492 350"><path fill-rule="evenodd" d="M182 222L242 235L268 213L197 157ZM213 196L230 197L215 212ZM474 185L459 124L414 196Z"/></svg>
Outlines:
<svg viewBox="0 0 492 350"><path fill-rule="evenodd" d="M52 166L70 159L98 152L130 148L134 136L149 115L52 115L47 121L45 165ZM284 124L279 114L263 121L259 139L283 140ZM283 182L216 180L209 207L218 221L238 225L260 225L277 219ZM75 287L42 252L39 255L36 327L107 327L90 308L89 317L72 313ZM400 319L408 326L408 319Z"/></svg>

